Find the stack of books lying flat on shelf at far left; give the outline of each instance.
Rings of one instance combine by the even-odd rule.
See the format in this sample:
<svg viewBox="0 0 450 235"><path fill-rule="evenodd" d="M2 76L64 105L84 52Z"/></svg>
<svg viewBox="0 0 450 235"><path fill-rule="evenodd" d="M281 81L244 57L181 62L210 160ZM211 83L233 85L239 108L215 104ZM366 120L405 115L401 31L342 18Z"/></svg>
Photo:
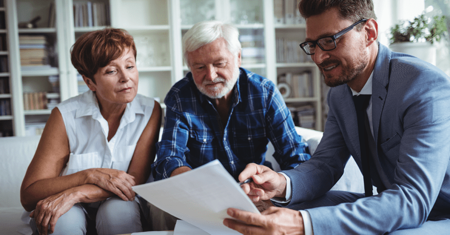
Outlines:
<svg viewBox="0 0 450 235"><path fill-rule="evenodd" d="M45 35L19 35L19 48L20 64L23 68L50 66Z"/></svg>

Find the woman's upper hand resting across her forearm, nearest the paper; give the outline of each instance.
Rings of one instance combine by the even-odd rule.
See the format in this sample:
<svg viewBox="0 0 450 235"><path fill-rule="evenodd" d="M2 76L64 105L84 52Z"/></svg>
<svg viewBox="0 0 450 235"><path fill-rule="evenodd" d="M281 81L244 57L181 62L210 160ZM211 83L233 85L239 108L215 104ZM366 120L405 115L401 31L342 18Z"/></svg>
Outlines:
<svg viewBox="0 0 450 235"><path fill-rule="evenodd" d="M115 193L124 201L133 201L135 193L131 189L136 185L134 176L125 171L119 171L109 168L94 168L90 170L90 184L97 185L100 188Z"/></svg>

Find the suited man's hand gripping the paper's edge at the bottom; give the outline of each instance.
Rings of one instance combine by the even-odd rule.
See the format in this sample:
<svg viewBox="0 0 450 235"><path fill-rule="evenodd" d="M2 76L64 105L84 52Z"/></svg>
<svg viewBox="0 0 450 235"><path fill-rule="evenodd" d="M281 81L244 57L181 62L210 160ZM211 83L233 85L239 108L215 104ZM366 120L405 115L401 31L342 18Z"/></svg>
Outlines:
<svg viewBox="0 0 450 235"><path fill-rule="evenodd" d="M245 235L304 235L300 211L271 206L260 215L235 208L227 214L237 220L225 219L223 224Z"/></svg>

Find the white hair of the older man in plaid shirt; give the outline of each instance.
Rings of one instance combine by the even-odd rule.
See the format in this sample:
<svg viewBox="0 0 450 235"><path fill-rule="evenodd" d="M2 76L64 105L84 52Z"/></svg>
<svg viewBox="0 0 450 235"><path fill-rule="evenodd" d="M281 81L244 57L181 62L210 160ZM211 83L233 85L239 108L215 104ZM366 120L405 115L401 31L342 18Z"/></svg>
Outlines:
<svg viewBox="0 0 450 235"><path fill-rule="evenodd" d="M194 24L183 36L183 58L188 67L190 67L188 52L210 44L219 38L225 39L228 50L235 56L241 51L239 31L233 25L220 21L202 21Z"/></svg>

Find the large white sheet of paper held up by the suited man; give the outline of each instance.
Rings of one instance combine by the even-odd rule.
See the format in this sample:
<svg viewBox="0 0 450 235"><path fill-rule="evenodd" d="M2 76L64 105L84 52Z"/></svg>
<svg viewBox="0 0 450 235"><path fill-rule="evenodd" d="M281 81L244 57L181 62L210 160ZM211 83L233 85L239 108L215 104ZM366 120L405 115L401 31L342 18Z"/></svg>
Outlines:
<svg viewBox="0 0 450 235"><path fill-rule="evenodd" d="M223 225L230 207L258 213L219 160L192 171L144 185L133 190L145 200L211 235L239 234Z"/></svg>

